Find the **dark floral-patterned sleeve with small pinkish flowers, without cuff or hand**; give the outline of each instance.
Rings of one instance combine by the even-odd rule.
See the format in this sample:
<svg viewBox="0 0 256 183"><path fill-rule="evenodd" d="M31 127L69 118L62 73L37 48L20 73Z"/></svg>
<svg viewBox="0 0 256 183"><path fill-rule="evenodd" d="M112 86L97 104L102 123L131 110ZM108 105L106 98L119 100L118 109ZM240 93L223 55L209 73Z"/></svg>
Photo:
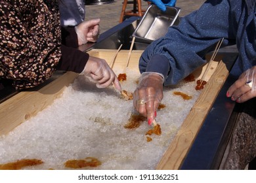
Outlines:
<svg viewBox="0 0 256 183"><path fill-rule="evenodd" d="M53 75L61 57L58 0L0 1L0 79L16 90Z"/></svg>

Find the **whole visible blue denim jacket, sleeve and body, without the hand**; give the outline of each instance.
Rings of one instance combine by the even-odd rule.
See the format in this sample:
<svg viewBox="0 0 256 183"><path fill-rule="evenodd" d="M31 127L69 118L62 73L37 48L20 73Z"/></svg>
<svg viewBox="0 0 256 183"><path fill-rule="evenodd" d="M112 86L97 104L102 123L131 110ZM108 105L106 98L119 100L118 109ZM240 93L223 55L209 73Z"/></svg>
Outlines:
<svg viewBox="0 0 256 183"><path fill-rule="evenodd" d="M236 44L238 64L245 71L256 65L255 16L255 0L205 1L146 48L140 72L163 74L165 86L177 84L205 63L205 54L222 38L222 47Z"/></svg>

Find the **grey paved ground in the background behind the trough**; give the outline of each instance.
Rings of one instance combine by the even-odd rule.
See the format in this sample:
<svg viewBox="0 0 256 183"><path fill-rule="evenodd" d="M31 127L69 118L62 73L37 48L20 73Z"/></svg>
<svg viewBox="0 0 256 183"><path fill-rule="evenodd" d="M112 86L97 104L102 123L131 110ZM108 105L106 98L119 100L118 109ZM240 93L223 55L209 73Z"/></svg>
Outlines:
<svg viewBox="0 0 256 183"><path fill-rule="evenodd" d="M197 10L205 0L177 0L176 7L181 8L180 16L184 16ZM104 5L85 5L85 20L100 18L100 33L119 24L123 0L115 0L114 3ZM142 1L142 8L146 10L148 3ZM127 7L132 8L132 7Z"/></svg>

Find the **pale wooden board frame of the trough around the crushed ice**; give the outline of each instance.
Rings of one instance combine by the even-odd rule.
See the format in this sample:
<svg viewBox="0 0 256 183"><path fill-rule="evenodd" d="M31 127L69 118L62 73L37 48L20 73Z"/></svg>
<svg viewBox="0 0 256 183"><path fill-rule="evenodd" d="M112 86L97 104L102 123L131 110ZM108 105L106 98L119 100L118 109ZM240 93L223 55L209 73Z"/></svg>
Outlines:
<svg viewBox="0 0 256 183"><path fill-rule="evenodd" d="M116 56L115 67L126 67L126 60L129 50L121 50ZM106 59L110 64L116 54L116 50L91 50L91 56ZM129 69L135 69L139 72L138 61L142 51L134 50L131 53L129 61ZM207 57L208 59L210 56ZM194 72L194 76L201 78L203 71L207 65ZM179 169L182 161L186 158L194 139L203 124L205 116L207 116L215 98L221 90L226 77L228 76L229 68L221 61L221 56L217 56L215 61L211 62L209 71L205 76L207 84L203 89L200 97L191 108L188 116L181 125L174 140L169 144L169 148L163 154L156 169ZM77 77L76 73L68 72L53 80L39 90L32 92L20 92L7 99L0 104L0 135L7 135L16 126L26 122L37 112L51 105L57 97L60 97L62 92L70 83L74 82Z"/></svg>

